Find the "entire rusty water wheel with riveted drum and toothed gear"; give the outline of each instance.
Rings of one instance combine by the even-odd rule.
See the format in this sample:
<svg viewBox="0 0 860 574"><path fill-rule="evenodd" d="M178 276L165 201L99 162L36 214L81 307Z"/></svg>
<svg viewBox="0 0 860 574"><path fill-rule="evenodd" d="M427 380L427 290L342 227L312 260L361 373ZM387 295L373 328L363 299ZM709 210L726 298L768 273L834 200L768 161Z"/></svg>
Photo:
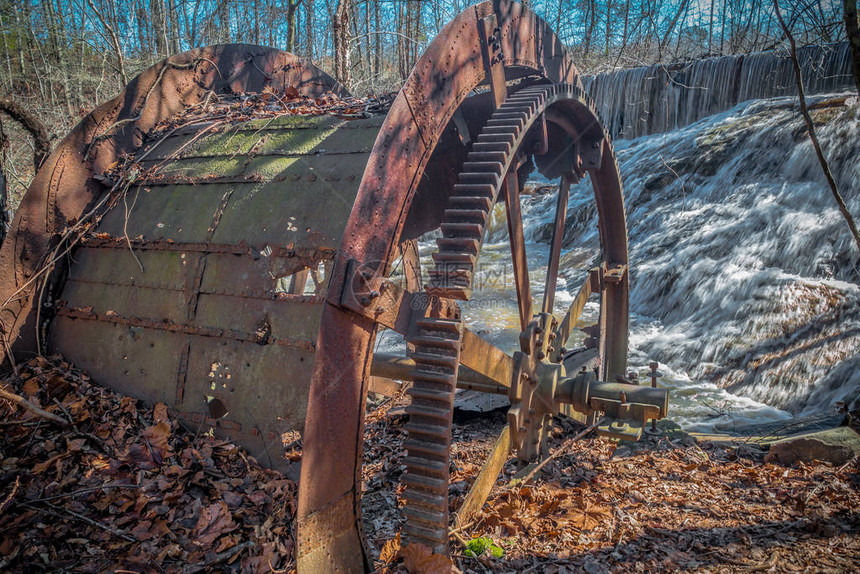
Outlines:
<svg viewBox="0 0 860 574"><path fill-rule="evenodd" d="M84 118L37 174L0 251L0 335L19 358L62 352L101 384L165 402L186 424L213 428L263 464L285 465L273 447L282 433L303 430L299 571L359 572L368 567L363 417L381 362L373 342L379 326L394 329L414 347L398 364L414 367L382 365L386 376L416 380L405 532L442 552L455 385L507 394L513 403L510 430L458 511L462 518L480 508L509 452L536 455L543 421L568 408L553 397L550 409L541 406L546 401L527 383L547 372L558 378L561 341L591 293L601 298L594 349L567 364L595 359L607 381L624 372L623 196L611 143L581 86L546 22L518 3L483 2L437 35L384 118L295 116L223 132L196 122L169 134L164 154L149 156L165 160L160 173L147 172L157 177L111 185L111 165L126 156L143 162L148 146L159 145L146 134L210 97L348 95L308 62L269 48L174 56ZM225 148L237 141L234 131L248 143L238 157ZM263 136L269 143L258 142ZM171 149L194 146L170 157ZM559 230L567 182L587 172L594 184L603 263L555 325L561 233L539 313L524 263L516 168L530 154L544 175L563 177ZM194 181L185 177L192 171ZM470 296L486 217L500 197L508 200L523 331L514 355L464 326L457 306ZM111 199L116 209L94 221L93 208ZM435 229L442 237L428 289L415 281L399 288L389 279L392 264ZM64 251L74 230L86 233L74 252ZM325 281L308 293L301 287L320 265ZM290 285L279 286L287 277ZM550 332L552 340L541 336ZM532 409L540 416L529 416Z"/></svg>

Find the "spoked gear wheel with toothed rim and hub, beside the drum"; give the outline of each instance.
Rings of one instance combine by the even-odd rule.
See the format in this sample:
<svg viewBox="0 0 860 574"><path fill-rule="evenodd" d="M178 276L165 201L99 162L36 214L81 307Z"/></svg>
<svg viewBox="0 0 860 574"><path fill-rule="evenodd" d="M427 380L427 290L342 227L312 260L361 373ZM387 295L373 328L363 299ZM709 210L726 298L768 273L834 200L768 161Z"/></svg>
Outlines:
<svg viewBox="0 0 860 574"><path fill-rule="evenodd" d="M412 352L415 370L412 373L413 386L408 391L412 404L407 408L410 415L406 425L408 454L404 461L407 471L402 479L406 485L404 531L410 541L425 544L436 552L445 552L448 543L451 419L461 364L476 366L481 360L491 358L496 365L495 373L502 374L494 382L507 389L512 403L508 426L495 441L484 469L457 511L461 522L469 520L480 510L511 450L523 461L533 460L543 450L553 407L558 405L547 408L547 405L539 405L537 398L529 396L532 385L524 382L528 377L527 371L535 372L540 364L561 365L567 359L566 366L574 371L589 363L599 365L600 380L612 380L614 375L624 372L627 351L627 238L623 210L620 219L611 221L610 216L610 221L607 221L605 209L606 200L612 196L613 190L620 191L620 185L608 137L602 133L599 124L581 123L582 118L589 117L591 119L587 122L596 121L596 114L586 97L573 86L538 84L515 92L499 106L472 144L445 211L442 237L436 240L438 249L433 253L435 268L430 270L431 282L426 288L436 305L431 305L427 316L418 321L417 333L410 339L415 346ZM560 318L552 313L569 187L571 180L584 174L586 168L580 156L573 166L574 171L561 177L555 231L546 264L546 285L540 310L534 314L517 169L529 161L535 148L543 147L553 162L563 161L552 157L553 154L560 155L561 150L543 146L540 139L535 139L546 133L544 122L550 124L551 131L564 132L570 141L578 140L580 144L589 146L592 142L600 142L606 146L603 153L608 158L605 166L601 162L599 168L593 167L588 171L594 182L598 204L603 204L599 209L603 215L600 221L601 244L604 254L610 258L586 277L574 303ZM588 132L595 127L601 137L589 141ZM544 130L543 134L541 130ZM620 197L613 200L618 201ZM465 329L454 303L468 300L471 296L481 244L496 201L505 202L522 329L521 351L514 357L500 349L489 348L486 341L476 341L478 336ZM590 280L592 276L594 281ZM586 348L565 353L564 345L591 293L600 295L600 321L589 330ZM531 363L530 369L524 368L526 363ZM476 388L468 381L464 386Z"/></svg>

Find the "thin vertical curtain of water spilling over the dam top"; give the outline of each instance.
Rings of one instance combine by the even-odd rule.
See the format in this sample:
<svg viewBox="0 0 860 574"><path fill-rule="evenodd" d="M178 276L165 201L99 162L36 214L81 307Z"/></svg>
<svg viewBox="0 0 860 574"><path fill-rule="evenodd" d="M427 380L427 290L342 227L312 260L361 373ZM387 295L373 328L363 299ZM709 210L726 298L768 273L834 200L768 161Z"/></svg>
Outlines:
<svg viewBox="0 0 860 574"><path fill-rule="evenodd" d="M808 95L853 87L848 43L798 50ZM778 52L722 56L583 76L614 139L688 126L752 99L797 94L791 59Z"/></svg>

